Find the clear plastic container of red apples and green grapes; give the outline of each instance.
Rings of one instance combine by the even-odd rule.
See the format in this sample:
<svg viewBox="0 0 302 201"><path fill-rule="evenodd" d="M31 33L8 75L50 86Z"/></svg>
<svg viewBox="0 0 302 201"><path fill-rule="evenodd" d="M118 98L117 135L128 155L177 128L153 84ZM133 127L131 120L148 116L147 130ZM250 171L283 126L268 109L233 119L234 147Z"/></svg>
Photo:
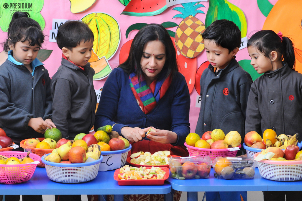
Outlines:
<svg viewBox="0 0 302 201"><path fill-rule="evenodd" d="M169 159L171 176L179 180L209 178L211 165L209 156L172 157Z"/></svg>

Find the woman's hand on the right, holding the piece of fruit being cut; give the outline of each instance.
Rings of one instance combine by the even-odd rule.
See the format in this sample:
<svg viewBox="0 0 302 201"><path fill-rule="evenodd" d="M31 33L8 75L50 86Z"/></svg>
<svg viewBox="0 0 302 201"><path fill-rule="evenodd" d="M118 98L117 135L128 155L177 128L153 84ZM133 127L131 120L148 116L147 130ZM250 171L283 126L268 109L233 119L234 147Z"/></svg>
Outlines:
<svg viewBox="0 0 302 201"><path fill-rule="evenodd" d="M150 129L149 128L144 128L143 130L146 129L146 132ZM152 127L153 128L153 127ZM147 138L149 138L152 141L159 142L162 144L172 144L177 141L177 134L172 131L167 131L167 130L160 130L153 128L156 132L149 132L147 135Z"/></svg>

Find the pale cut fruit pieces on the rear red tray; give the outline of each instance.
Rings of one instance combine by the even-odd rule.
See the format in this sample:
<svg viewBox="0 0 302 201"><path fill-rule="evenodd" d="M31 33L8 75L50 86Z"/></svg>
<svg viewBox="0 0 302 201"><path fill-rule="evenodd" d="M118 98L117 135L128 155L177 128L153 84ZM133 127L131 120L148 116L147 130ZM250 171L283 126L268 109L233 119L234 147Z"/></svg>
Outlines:
<svg viewBox="0 0 302 201"><path fill-rule="evenodd" d="M154 154L140 151L130 155L130 163L139 165L167 165L169 164L170 151L157 151Z"/></svg>

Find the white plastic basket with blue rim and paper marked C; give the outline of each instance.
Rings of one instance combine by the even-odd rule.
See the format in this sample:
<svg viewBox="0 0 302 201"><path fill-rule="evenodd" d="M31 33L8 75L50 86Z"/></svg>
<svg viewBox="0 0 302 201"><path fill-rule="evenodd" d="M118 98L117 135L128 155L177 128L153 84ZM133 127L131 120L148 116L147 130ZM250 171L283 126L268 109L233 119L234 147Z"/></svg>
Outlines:
<svg viewBox="0 0 302 201"><path fill-rule="evenodd" d="M102 151L103 161L98 168L98 171L115 170L117 168L123 167L127 160L128 152L131 150L132 146L127 149L122 149L118 151Z"/></svg>

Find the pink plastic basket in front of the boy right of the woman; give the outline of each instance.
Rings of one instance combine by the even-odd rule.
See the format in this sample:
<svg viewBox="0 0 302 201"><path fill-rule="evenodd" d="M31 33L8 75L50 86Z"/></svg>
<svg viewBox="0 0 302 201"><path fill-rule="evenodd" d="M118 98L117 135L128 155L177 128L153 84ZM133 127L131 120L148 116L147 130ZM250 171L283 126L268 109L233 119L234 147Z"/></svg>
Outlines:
<svg viewBox="0 0 302 201"><path fill-rule="evenodd" d="M237 154L237 151L230 151L229 149L204 149L190 146L187 143L185 146L188 148L190 156L209 156L212 161L218 156L234 157ZM240 148L241 144L238 147Z"/></svg>

